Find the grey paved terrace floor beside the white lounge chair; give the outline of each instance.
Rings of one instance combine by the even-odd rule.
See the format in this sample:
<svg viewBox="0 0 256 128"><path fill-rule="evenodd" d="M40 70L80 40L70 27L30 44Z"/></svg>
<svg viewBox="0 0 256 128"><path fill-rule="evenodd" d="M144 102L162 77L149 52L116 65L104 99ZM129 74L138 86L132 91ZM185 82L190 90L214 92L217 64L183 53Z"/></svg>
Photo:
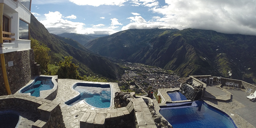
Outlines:
<svg viewBox="0 0 256 128"><path fill-rule="evenodd" d="M256 127L256 100L251 101L246 98L245 91L243 90L230 90L227 89L232 95L233 99L237 100L245 107L235 110L239 116Z"/></svg>

